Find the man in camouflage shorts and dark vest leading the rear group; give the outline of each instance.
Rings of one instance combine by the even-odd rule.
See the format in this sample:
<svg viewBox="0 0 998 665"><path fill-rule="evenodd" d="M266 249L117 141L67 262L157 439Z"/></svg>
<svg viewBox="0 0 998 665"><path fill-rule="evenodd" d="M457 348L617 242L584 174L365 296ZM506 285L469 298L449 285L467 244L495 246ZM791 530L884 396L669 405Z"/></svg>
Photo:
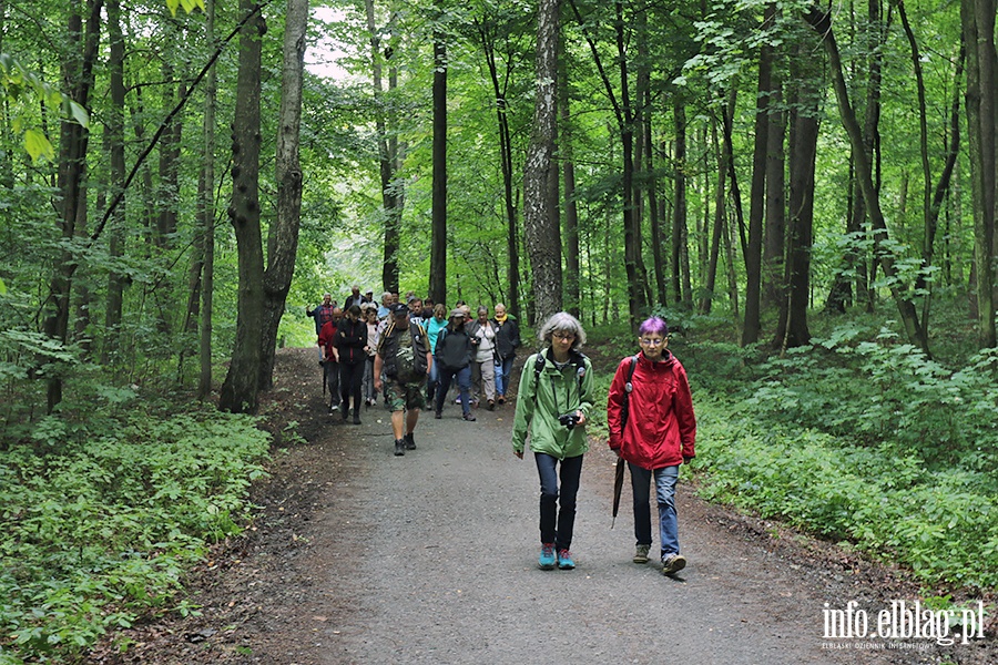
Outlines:
<svg viewBox="0 0 998 665"><path fill-rule="evenodd" d="M426 330L409 320L409 308L400 303L391 306L390 323L378 341L375 355L375 389L381 390L385 375L385 406L391 411L395 454L414 450L413 430L419 410L426 407L424 390L434 358L427 346Z"/></svg>

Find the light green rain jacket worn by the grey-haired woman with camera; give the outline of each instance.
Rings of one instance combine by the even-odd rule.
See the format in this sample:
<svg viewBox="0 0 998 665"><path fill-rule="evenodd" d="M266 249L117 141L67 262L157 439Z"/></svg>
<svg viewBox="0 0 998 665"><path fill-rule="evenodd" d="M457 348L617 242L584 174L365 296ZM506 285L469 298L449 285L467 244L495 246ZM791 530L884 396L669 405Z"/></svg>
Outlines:
<svg viewBox="0 0 998 665"><path fill-rule="evenodd" d="M513 450L523 451L529 428L530 450L533 452L543 452L559 460L579 457L589 450L585 426L568 429L558 421L558 417L578 410L589 420L593 393L592 364L579 354L581 368L584 369L580 381L576 362L570 361L559 371L551 361L550 349L541 352L546 360L540 376L534 371L537 354L527 359L520 375L513 419Z"/></svg>

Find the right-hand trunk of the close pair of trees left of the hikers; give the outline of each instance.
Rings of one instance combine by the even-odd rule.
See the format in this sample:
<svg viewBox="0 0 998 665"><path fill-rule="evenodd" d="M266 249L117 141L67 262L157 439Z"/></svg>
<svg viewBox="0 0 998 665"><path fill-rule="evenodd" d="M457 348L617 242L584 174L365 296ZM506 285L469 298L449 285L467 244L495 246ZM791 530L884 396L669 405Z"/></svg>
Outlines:
<svg viewBox="0 0 998 665"><path fill-rule="evenodd" d="M302 81L305 71L305 32L308 0L287 0L284 28L284 68L281 109L277 112L277 222L267 234L267 270L264 273L264 324L261 339L259 389L274 385L277 327L295 275L298 227L302 221L302 165L298 137L302 127Z"/></svg>

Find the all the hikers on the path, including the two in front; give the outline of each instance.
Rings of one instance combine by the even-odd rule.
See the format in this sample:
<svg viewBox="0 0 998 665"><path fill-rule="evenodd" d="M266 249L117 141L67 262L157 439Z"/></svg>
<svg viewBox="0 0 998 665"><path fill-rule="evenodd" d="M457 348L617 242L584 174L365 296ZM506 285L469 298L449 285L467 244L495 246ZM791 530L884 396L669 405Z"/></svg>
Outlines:
<svg viewBox="0 0 998 665"><path fill-rule="evenodd" d="M383 393L391 411L395 454L414 450L419 412L429 401L442 418L451 383L456 382L461 418L473 421L473 405L488 409L506 402L516 349L520 346L516 318L498 304L493 316L481 306L458 303L447 314L444 304L409 294L406 303L354 287L346 315L327 294L309 311L316 318L325 366L339 364L342 401L347 419L354 399L359 423L361 395L368 405ZM320 311L328 308L328 315ZM328 318L324 318L328 316ZM343 317L346 321L343 321ZM540 480L540 542L538 565L543 570L576 567L571 552L576 501L582 460L589 450L585 424L594 407L592 364L582 354L585 331L572 315L560 311L538 328L541 350L527 358L517 390L512 449L522 459L533 452ZM680 554L675 488L680 464L694 457L696 419L690 383L682 364L669 351L669 326L661 317L644 320L638 331L640 351L620 361L607 400L610 449L630 470L634 510L635 551L632 561L650 561L652 546L650 489L654 480L659 509L659 560L664 575L683 570ZM363 372L344 365L369 362ZM358 377L361 377L358 379ZM371 389L368 391L368 387ZM374 400L374 401L373 401Z"/></svg>

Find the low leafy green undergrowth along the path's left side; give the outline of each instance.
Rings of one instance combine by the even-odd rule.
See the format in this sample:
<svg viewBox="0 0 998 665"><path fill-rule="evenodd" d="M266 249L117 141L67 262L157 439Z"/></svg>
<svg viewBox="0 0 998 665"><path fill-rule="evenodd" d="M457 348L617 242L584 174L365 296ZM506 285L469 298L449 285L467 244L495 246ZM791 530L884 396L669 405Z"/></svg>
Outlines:
<svg viewBox="0 0 998 665"><path fill-rule="evenodd" d="M106 399L130 401L123 392ZM79 654L174 606L184 571L249 518L268 437L247 417L133 408L86 428L47 418L49 452L0 453L0 653Z"/></svg>

